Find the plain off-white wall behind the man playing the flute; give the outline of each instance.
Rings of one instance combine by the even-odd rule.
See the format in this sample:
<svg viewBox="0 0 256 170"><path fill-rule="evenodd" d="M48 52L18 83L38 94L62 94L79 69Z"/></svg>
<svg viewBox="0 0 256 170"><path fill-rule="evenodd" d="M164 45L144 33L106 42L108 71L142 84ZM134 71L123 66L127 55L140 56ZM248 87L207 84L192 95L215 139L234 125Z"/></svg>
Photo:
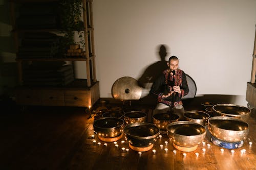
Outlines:
<svg viewBox="0 0 256 170"><path fill-rule="evenodd" d="M117 79L138 79L159 61L164 44L166 60L180 59L180 68L197 84L197 95L234 94L245 103L255 7L255 0L94 0L100 98L112 98Z"/></svg>

